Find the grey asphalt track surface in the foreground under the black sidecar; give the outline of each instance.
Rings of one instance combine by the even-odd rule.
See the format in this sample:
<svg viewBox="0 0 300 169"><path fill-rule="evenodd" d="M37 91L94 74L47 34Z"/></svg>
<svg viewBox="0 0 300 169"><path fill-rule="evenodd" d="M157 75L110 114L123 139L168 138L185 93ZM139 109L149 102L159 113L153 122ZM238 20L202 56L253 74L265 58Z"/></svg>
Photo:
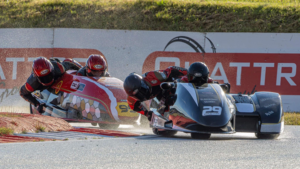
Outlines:
<svg viewBox="0 0 300 169"><path fill-rule="evenodd" d="M118 130L140 137L0 144L0 168L300 168L300 126L276 140L253 133L212 134L208 140Z"/></svg>

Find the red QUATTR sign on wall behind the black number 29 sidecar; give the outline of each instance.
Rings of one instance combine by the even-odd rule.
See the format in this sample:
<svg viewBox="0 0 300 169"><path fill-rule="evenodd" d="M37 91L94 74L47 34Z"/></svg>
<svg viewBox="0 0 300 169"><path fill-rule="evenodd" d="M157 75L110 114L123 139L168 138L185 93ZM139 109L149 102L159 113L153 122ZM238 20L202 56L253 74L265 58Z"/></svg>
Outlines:
<svg viewBox="0 0 300 169"><path fill-rule="evenodd" d="M205 62L210 77L219 83L229 82L231 93L268 91L300 95L300 54L157 51L146 58L142 72L168 66L187 68L193 62Z"/></svg>

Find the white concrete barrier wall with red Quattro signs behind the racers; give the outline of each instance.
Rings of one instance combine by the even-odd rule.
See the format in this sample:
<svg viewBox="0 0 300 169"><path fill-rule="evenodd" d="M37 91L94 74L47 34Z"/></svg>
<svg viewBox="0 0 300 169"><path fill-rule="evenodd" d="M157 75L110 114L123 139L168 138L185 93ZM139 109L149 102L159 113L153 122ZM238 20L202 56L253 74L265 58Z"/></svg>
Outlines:
<svg viewBox="0 0 300 169"><path fill-rule="evenodd" d="M299 44L297 33L0 29L0 107L28 106L18 89L34 58L73 58L84 65L90 54L101 53L121 80L132 72L205 62L213 79L232 84L231 92L278 92L286 111L299 111Z"/></svg>

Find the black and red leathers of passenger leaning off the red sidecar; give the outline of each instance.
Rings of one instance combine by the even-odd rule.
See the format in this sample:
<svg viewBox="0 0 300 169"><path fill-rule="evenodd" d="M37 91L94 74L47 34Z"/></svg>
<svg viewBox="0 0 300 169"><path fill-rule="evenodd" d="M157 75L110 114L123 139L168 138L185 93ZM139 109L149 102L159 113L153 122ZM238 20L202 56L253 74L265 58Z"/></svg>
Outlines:
<svg viewBox="0 0 300 169"><path fill-rule="evenodd" d="M82 68L82 66L78 62L74 61L73 59L65 59L64 62L62 63L59 63L58 61L52 61L51 64L53 65L54 68L54 82L59 77L61 77L64 74L64 72L66 72L67 70L70 69L79 70L80 68ZM35 97L31 95L31 93L36 90L45 90L49 88L51 85L49 86L42 85L31 73L26 83L20 89L20 96L24 98L26 101L28 101L29 103L33 105L37 105L38 101L36 100Z"/></svg>

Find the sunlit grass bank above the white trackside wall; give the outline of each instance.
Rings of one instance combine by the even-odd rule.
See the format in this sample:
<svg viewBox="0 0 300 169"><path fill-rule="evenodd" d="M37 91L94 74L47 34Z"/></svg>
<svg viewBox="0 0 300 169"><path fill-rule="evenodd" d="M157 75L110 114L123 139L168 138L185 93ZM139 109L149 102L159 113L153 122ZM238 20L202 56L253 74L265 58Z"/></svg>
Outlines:
<svg viewBox="0 0 300 169"><path fill-rule="evenodd" d="M295 0L9 0L0 28L300 32Z"/></svg>

